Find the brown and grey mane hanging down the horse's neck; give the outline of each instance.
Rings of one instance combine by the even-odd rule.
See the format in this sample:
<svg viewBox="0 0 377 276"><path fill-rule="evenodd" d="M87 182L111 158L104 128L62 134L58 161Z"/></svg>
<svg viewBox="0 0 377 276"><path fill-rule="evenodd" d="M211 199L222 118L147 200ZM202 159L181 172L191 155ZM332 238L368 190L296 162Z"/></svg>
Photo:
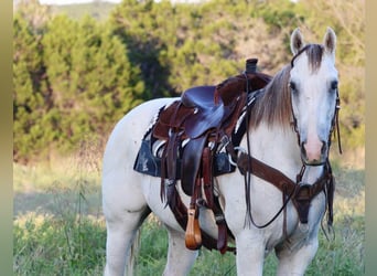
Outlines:
<svg viewBox="0 0 377 276"><path fill-rule="evenodd" d="M262 121L268 126L290 126L292 116L291 94L288 86L290 71L291 66L286 65L265 87L265 93L251 108L251 127L257 127Z"/></svg>

